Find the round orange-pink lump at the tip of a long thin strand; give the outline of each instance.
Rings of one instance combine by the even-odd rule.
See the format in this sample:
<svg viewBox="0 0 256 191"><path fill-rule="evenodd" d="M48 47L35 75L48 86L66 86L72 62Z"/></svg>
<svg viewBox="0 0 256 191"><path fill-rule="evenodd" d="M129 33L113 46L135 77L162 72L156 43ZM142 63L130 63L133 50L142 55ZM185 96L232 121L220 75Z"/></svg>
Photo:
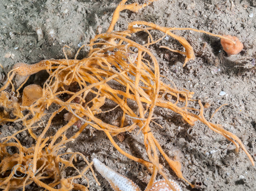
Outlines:
<svg viewBox="0 0 256 191"><path fill-rule="evenodd" d="M220 39L220 43L223 47L223 50L227 52L227 54L234 55L241 52L243 49L243 43L239 41L239 39L235 36L231 35L223 35L224 37L227 37L229 39Z"/></svg>

